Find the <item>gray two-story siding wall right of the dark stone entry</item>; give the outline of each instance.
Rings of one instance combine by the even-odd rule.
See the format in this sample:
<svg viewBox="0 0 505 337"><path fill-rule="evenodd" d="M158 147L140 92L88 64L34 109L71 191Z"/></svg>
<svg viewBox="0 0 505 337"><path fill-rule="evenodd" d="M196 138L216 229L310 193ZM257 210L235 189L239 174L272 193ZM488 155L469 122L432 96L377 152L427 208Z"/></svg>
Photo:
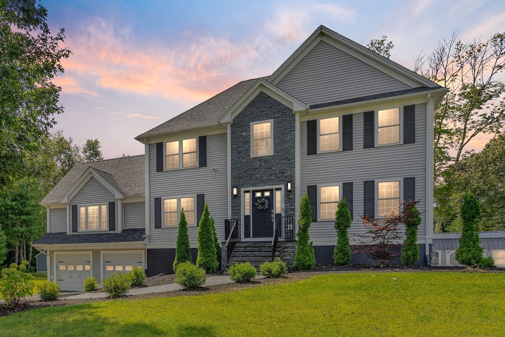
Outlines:
<svg viewBox="0 0 505 337"><path fill-rule="evenodd" d="M418 209L422 223L418 239L424 238L426 229L426 104L416 105L416 142L363 149L363 113L353 118L354 149L345 152L320 153L307 156L307 122L301 122L301 196L308 185L352 182L354 187L354 220L349 229L351 242L360 239L357 234L366 229L360 220L363 214L363 181L402 180L416 177L416 199L421 200ZM319 194L319 190L318 190ZM400 190L400 194L403 191ZM377 203L377 201L376 201ZM333 221L312 223L309 230L315 245L335 242Z"/></svg>

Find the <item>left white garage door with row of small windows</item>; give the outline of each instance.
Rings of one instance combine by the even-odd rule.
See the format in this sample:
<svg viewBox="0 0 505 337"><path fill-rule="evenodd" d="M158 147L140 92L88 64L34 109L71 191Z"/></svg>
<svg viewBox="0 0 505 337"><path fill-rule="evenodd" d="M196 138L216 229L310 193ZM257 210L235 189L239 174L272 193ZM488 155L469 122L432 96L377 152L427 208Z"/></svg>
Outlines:
<svg viewBox="0 0 505 337"><path fill-rule="evenodd" d="M91 254L56 254L56 281L62 290L84 290L84 280L91 276Z"/></svg>

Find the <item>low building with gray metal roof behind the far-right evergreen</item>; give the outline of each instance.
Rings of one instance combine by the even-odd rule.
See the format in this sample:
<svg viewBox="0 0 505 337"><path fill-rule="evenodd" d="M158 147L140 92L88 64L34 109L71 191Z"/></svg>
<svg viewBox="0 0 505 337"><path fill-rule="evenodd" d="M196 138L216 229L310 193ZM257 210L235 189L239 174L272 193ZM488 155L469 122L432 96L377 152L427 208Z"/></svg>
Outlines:
<svg viewBox="0 0 505 337"><path fill-rule="evenodd" d="M482 256L492 256L497 267L505 267L505 231L479 232ZM433 233L432 264L436 266L460 266L456 250L460 248L461 233Z"/></svg>

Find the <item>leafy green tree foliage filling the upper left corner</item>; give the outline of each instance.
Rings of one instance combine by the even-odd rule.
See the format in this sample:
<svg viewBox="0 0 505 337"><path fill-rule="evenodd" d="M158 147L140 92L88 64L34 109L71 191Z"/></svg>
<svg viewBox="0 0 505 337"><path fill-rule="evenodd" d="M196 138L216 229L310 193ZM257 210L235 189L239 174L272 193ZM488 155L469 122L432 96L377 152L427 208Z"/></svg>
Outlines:
<svg viewBox="0 0 505 337"><path fill-rule="evenodd" d="M52 35L47 12L34 0L0 1L0 185L27 173L26 161L63 113L61 87L52 83L63 73L60 48L64 29Z"/></svg>

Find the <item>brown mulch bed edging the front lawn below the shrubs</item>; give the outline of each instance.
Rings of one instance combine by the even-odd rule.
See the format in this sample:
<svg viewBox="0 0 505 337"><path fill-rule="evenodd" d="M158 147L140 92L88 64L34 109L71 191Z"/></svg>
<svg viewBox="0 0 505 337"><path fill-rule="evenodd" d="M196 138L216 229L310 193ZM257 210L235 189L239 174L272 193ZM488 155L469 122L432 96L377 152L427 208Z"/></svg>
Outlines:
<svg viewBox="0 0 505 337"><path fill-rule="evenodd" d="M207 294L216 294L216 293L230 293L236 292L240 290L244 290L247 288L253 288L257 286L265 286L269 284L283 284L289 282L295 282L298 280L311 278L316 275L323 274L332 274L332 273L349 273L349 272L443 272L443 271L453 271L453 272L491 272L491 273L505 273L504 269L497 268L480 268L480 269L467 269L466 267L441 267L441 266L427 266L427 265L388 265L384 268L379 268L377 265L352 265L352 266L316 266L316 268L311 271L295 271L289 270L289 273L286 277L283 278L262 278L257 279L252 282L247 283L227 283L227 284L217 284L211 286L205 286L198 288L197 290L176 290L165 293L151 293L151 294L143 294L143 295L134 295L134 296L124 296L120 299L111 299L100 298L100 299L78 299L78 300L69 300L69 299L61 299L57 301L51 302L43 302L37 300L26 300L20 303L20 305L16 308L7 307L5 304L0 304L0 316L7 316L13 313L44 308L44 307L60 307L66 305L75 305L75 304L85 304L85 303L94 303L94 302L102 302L102 301L118 301L118 300L145 300L145 299L154 299L161 297L176 297L176 296L198 296L198 295L207 295ZM221 273L214 273L208 275L216 276L221 275ZM146 278L146 285L154 286L154 285L162 285L173 283L173 279L175 275L158 275L154 277Z"/></svg>

